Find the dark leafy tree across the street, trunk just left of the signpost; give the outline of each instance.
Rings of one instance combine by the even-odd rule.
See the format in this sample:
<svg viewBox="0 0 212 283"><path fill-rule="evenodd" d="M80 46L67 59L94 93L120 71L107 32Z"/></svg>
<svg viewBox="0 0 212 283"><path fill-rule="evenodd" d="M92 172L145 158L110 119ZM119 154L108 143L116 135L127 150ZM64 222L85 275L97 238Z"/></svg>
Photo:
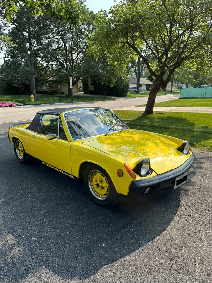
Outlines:
<svg viewBox="0 0 212 283"><path fill-rule="evenodd" d="M52 67L52 74L57 80L68 82L68 97L72 96L69 77L73 86L83 74L87 58L88 39L93 31L94 14L79 4L82 14L81 22L73 25L71 22L57 22L45 17L40 22L41 59L44 64Z"/></svg>

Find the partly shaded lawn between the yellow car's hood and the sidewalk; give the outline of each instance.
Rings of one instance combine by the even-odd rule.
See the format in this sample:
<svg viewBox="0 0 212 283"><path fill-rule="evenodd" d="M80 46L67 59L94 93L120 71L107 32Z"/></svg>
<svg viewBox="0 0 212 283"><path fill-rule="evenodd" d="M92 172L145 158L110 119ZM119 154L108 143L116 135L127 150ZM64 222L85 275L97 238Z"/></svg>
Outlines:
<svg viewBox="0 0 212 283"><path fill-rule="evenodd" d="M133 129L147 130L187 140L192 147L212 151L212 115L209 113L115 111Z"/></svg>

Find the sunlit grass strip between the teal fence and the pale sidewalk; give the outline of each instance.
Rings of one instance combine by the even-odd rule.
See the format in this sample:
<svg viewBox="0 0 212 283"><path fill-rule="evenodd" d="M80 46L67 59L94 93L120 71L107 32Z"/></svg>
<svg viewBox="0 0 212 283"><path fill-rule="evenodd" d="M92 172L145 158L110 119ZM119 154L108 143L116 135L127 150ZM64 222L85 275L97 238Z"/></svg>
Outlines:
<svg viewBox="0 0 212 283"><path fill-rule="evenodd" d="M145 104L139 106L145 106ZM212 98L173 99L155 103L155 106L212 107Z"/></svg>

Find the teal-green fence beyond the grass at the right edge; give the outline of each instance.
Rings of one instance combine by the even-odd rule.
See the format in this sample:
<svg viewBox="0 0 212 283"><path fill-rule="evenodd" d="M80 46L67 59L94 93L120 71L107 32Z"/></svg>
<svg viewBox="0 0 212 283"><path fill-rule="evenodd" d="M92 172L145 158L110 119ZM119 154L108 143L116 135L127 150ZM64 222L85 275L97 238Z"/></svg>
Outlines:
<svg viewBox="0 0 212 283"><path fill-rule="evenodd" d="M212 87L181 88L180 98L212 98Z"/></svg>

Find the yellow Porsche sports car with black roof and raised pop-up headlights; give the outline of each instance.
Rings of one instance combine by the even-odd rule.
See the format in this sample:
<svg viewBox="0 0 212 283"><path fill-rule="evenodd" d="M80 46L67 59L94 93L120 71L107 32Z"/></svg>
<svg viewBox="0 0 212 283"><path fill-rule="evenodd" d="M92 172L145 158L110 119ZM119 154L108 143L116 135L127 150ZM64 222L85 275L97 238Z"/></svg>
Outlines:
<svg viewBox="0 0 212 283"><path fill-rule="evenodd" d="M177 188L194 161L187 141L129 129L105 108L42 110L30 124L10 125L8 137L19 162L32 156L78 178L104 207L120 196L149 198Z"/></svg>

